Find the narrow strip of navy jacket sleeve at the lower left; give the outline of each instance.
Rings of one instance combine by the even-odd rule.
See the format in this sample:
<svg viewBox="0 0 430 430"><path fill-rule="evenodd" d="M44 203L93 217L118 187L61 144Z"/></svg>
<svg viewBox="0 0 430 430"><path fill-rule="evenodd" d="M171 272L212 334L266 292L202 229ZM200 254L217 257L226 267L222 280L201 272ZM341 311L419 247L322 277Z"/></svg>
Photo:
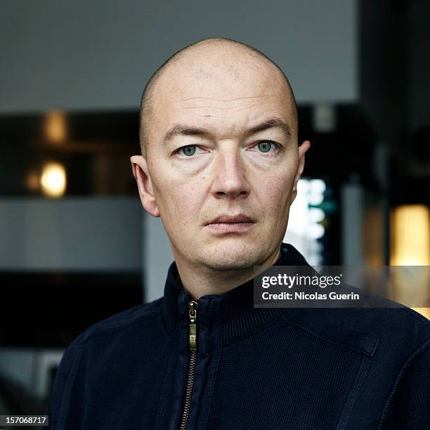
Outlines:
<svg viewBox="0 0 430 430"><path fill-rule="evenodd" d="M79 387L76 386L77 373L82 358L82 338L84 333L79 335L66 348L63 358L56 372L56 377L51 391L51 398L48 403L49 424L48 429L66 430L80 428L82 410L79 411L77 395ZM71 419L76 421L72 422Z"/></svg>

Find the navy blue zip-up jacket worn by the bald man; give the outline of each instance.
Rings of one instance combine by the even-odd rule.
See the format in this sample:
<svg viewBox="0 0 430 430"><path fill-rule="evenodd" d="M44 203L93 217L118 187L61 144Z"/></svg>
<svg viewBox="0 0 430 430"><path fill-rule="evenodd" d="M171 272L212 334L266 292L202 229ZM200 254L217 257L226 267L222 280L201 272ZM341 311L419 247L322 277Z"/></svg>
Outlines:
<svg viewBox="0 0 430 430"><path fill-rule="evenodd" d="M307 264L282 248L276 265ZM254 308L250 280L197 300L190 351L191 300L172 263L164 297L74 339L50 428L178 429L184 416L186 429L430 428L430 323L419 313Z"/></svg>

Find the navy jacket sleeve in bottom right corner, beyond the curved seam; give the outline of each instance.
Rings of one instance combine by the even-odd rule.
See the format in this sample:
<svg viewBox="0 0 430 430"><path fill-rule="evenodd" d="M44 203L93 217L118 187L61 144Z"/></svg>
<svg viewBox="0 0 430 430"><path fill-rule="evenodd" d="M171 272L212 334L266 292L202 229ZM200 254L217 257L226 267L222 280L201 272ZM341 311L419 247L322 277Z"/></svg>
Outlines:
<svg viewBox="0 0 430 430"><path fill-rule="evenodd" d="M412 356L391 391L382 429L430 429L430 339Z"/></svg>

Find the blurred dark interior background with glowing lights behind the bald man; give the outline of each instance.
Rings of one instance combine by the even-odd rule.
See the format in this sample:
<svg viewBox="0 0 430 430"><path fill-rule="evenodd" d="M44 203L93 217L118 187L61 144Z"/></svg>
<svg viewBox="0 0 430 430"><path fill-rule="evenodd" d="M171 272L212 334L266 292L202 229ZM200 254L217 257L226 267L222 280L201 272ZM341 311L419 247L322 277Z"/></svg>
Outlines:
<svg viewBox="0 0 430 430"><path fill-rule="evenodd" d="M143 87L197 40L289 77L312 146L285 242L313 265L429 266L429 19L429 0L2 1L0 415L43 413L74 337L162 296L173 256L129 157Z"/></svg>

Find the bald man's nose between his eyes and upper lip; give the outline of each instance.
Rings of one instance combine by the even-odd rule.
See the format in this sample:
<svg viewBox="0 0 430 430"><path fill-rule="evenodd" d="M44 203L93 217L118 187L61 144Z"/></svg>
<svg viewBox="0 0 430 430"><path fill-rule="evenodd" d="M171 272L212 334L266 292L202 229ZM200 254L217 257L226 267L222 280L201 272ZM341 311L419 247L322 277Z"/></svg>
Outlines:
<svg viewBox="0 0 430 430"><path fill-rule="evenodd" d="M214 160L214 181L212 194L216 198L247 197L249 182L245 160L235 148L221 148Z"/></svg>

